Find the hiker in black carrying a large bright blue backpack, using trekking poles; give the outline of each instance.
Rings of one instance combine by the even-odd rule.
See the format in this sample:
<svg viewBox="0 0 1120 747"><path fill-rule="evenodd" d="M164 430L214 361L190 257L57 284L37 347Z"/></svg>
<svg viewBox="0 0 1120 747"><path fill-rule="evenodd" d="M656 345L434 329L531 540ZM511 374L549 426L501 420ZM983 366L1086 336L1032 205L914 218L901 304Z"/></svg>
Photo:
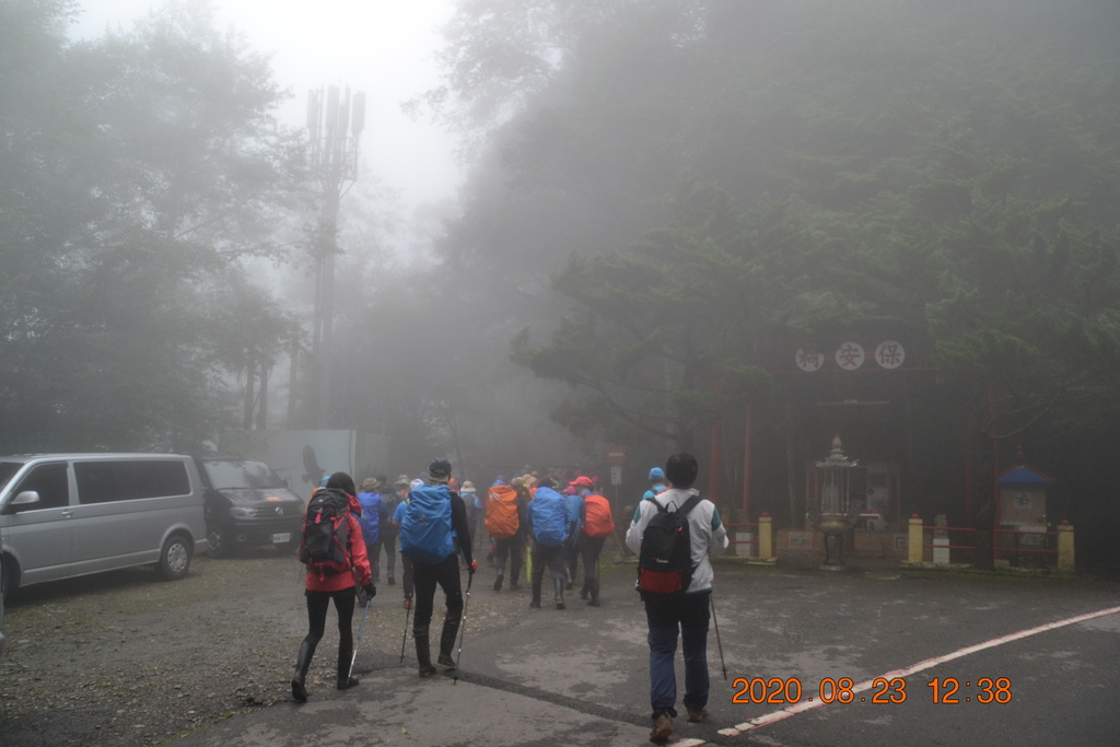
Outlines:
<svg viewBox="0 0 1120 747"><path fill-rule="evenodd" d="M428 467L429 484L412 487L409 494L409 507L401 522L401 555L412 560L417 590L412 637L416 641L417 662L422 678L436 673L436 667L431 665L428 626L431 623L437 585L444 590L447 600L437 663L440 666L455 669L451 650L455 647L455 636L463 619L463 589L459 582L459 559L455 551L456 536L460 539L459 550L467 562L468 572L473 576L477 569L470 552L470 530L467 526L466 507L459 494L448 489L447 483L450 477L451 463L445 459L432 461Z"/></svg>

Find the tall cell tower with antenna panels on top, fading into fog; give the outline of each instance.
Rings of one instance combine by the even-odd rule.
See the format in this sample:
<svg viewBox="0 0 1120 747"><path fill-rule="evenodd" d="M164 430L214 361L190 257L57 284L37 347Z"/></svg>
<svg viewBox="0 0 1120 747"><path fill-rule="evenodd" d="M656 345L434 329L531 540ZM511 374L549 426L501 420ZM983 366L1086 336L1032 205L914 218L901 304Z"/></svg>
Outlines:
<svg viewBox="0 0 1120 747"><path fill-rule="evenodd" d="M333 85L308 92L307 129L311 170L323 186L315 283L315 319L311 330L311 412L316 428L327 428L330 415L332 327L335 315L335 254L338 253L338 203L357 179L358 138L365 128L365 93L351 101L349 88L340 94Z"/></svg>

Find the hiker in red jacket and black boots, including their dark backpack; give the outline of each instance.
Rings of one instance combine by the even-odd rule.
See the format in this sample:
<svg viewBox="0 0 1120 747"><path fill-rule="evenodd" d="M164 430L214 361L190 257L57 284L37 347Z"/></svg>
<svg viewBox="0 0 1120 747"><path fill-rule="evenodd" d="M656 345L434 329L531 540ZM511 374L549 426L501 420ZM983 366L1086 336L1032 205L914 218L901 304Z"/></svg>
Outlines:
<svg viewBox="0 0 1120 747"><path fill-rule="evenodd" d="M320 496L320 493L325 495ZM311 666L315 648L326 631L327 607L332 600L338 613L336 687L346 690L357 684L357 678L351 676L355 591L356 587L361 587L367 598L373 598L377 590L373 586L362 526L354 515L354 512L361 512L362 508L355 493L351 476L335 473L327 479L325 488L311 495L307 516L304 519L300 560L307 563L304 595L307 597L308 632L299 647L296 671L291 678L291 694L301 703L307 702L307 672ZM320 542L316 542L312 534L317 525L325 527L324 534L319 535L323 538ZM343 544L345 547L340 547Z"/></svg>

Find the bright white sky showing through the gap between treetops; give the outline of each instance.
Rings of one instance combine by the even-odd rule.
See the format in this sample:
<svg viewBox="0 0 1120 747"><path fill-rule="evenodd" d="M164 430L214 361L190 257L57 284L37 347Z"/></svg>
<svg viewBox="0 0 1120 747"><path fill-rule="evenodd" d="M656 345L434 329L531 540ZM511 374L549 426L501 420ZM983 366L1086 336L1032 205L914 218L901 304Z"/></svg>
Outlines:
<svg viewBox="0 0 1120 747"><path fill-rule="evenodd" d="M125 31L161 0L80 0L75 38L95 38L106 27ZM325 0L213 0L220 29L234 26L250 46L272 54L276 81L295 96L281 121L304 127L307 92L323 85L366 93L362 175L375 175L399 190L404 217L424 203L452 198L461 180L454 138L421 118L412 121L400 103L438 83L433 60L438 28L454 11L450 0L371 2Z"/></svg>

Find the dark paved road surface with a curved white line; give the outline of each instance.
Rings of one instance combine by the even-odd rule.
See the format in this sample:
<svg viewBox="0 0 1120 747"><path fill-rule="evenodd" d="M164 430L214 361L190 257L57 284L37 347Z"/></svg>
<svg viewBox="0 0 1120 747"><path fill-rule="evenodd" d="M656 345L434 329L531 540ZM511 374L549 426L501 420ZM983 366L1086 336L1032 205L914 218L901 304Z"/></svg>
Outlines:
<svg viewBox="0 0 1120 747"><path fill-rule="evenodd" d="M487 586L489 572L479 571L476 601L496 594ZM1120 585L720 563L716 589L727 679L713 631L712 717L703 725L678 719L679 744L927 747L1120 739ZM512 624L484 635L472 635L468 606L457 681L420 680L414 659L399 665L400 638L371 642L358 656L357 689L312 692L306 704L236 717L174 744L648 744L648 648L633 567L618 566L605 577L599 608L576 599L566 611L531 610L528 597L523 601ZM401 615L403 629L403 613L384 614ZM1096 616L1070 622L1088 615ZM1054 623L1067 624L1032 631ZM1012 636L1023 632L1030 634ZM872 687L880 676L885 682ZM749 700L755 678L781 681L797 703L734 702ZM978 684L983 678L992 684ZM833 693L827 680L842 679L853 690ZM765 688L772 699L777 687ZM763 690L754 684L756 695ZM822 706L822 694L850 694L851 702ZM876 695L887 702L871 702ZM935 703L935 695L959 702Z"/></svg>

